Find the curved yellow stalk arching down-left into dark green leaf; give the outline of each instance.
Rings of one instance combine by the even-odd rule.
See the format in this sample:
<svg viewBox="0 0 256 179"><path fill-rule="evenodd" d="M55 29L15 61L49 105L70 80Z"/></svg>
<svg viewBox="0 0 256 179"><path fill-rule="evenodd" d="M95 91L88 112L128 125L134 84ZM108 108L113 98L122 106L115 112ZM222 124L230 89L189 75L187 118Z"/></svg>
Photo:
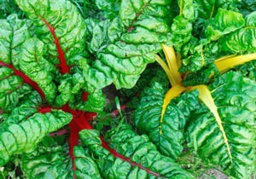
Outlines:
<svg viewBox="0 0 256 179"><path fill-rule="evenodd" d="M168 106L168 104L172 101L173 98L180 95L184 90L186 90L186 88L183 87L181 84L176 84L176 85L172 86L172 88L170 90L168 90L168 92L166 93L165 99L164 99L163 106L162 106L160 123L163 123L163 118L166 113L166 107ZM160 135L162 135L161 125L160 125Z"/></svg>

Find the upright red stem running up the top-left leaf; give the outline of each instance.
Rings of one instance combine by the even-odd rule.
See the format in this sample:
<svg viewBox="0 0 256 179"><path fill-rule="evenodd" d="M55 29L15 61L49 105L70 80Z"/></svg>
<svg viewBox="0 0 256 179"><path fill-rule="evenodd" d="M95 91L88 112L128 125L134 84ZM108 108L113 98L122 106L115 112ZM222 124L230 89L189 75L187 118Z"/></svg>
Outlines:
<svg viewBox="0 0 256 179"><path fill-rule="evenodd" d="M59 39L56 37L55 29L53 28L53 26L50 26L50 24L47 20L44 20L41 16L39 16L39 18L44 21L44 24L49 28L49 32L55 39L55 46L56 46L58 54L59 54L58 58L60 60L61 73L62 74L70 73L69 67L67 66L67 61L65 59L64 52L61 49L61 44L59 42Z"/></svg>

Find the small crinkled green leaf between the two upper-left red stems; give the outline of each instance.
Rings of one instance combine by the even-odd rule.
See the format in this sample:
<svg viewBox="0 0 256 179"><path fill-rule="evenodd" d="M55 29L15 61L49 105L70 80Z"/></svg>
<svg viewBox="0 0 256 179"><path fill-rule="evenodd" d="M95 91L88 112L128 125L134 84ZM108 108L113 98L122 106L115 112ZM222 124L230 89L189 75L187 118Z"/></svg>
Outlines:
<svg viewBox="0 0 256 179"><path fill-rule="evenodd" d="M44 43L38 38L30 38L21 48L21 71L39 85L49 102L53 102L56 95L56 86L53 82L56 69L43 57Z"/></svg>

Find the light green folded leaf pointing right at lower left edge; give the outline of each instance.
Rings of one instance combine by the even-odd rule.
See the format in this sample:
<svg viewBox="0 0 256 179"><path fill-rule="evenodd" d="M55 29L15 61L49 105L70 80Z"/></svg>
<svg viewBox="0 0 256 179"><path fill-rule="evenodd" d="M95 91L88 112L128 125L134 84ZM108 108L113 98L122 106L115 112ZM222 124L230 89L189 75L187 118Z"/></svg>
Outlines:
<svg viewBox="0 0 256 179"><path fill-rule="evenodd" d="M52 110L51 113L36 113L20 124L10 124L0 133L0 165L9 161L13 154L31 152L49 132L68 124L72 115Z"/></svg>

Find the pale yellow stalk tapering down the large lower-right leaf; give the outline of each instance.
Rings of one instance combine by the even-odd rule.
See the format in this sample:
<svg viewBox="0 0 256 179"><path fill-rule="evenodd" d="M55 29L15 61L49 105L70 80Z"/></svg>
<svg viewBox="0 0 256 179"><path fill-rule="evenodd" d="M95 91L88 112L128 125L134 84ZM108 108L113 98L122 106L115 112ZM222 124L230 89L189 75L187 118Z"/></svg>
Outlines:
<svg viewBox="0 0 256 179"><path fill-rule="evenodd" d="M203 103L205 103L205 105L209 108L209 110L212 112L213 116L216 119L216 122L218 124L219 130L222 132L222 135L224 137L224 143L228 149L228 153L230 156L230 161L231 163L232 161L232 156L231 156L231 152L230 152L230 145L228 142L228 138L226 136L226 133L224 131L224 127L222 125L222 121L221 118L218 115L218 109L214 103L214 100L212 98L211 92L210 90L207 88L206 85L198 85L198 86L194 86L191 88L191 90L199 90L199 98L201 99L201 101L203 101Z"/></svg>

